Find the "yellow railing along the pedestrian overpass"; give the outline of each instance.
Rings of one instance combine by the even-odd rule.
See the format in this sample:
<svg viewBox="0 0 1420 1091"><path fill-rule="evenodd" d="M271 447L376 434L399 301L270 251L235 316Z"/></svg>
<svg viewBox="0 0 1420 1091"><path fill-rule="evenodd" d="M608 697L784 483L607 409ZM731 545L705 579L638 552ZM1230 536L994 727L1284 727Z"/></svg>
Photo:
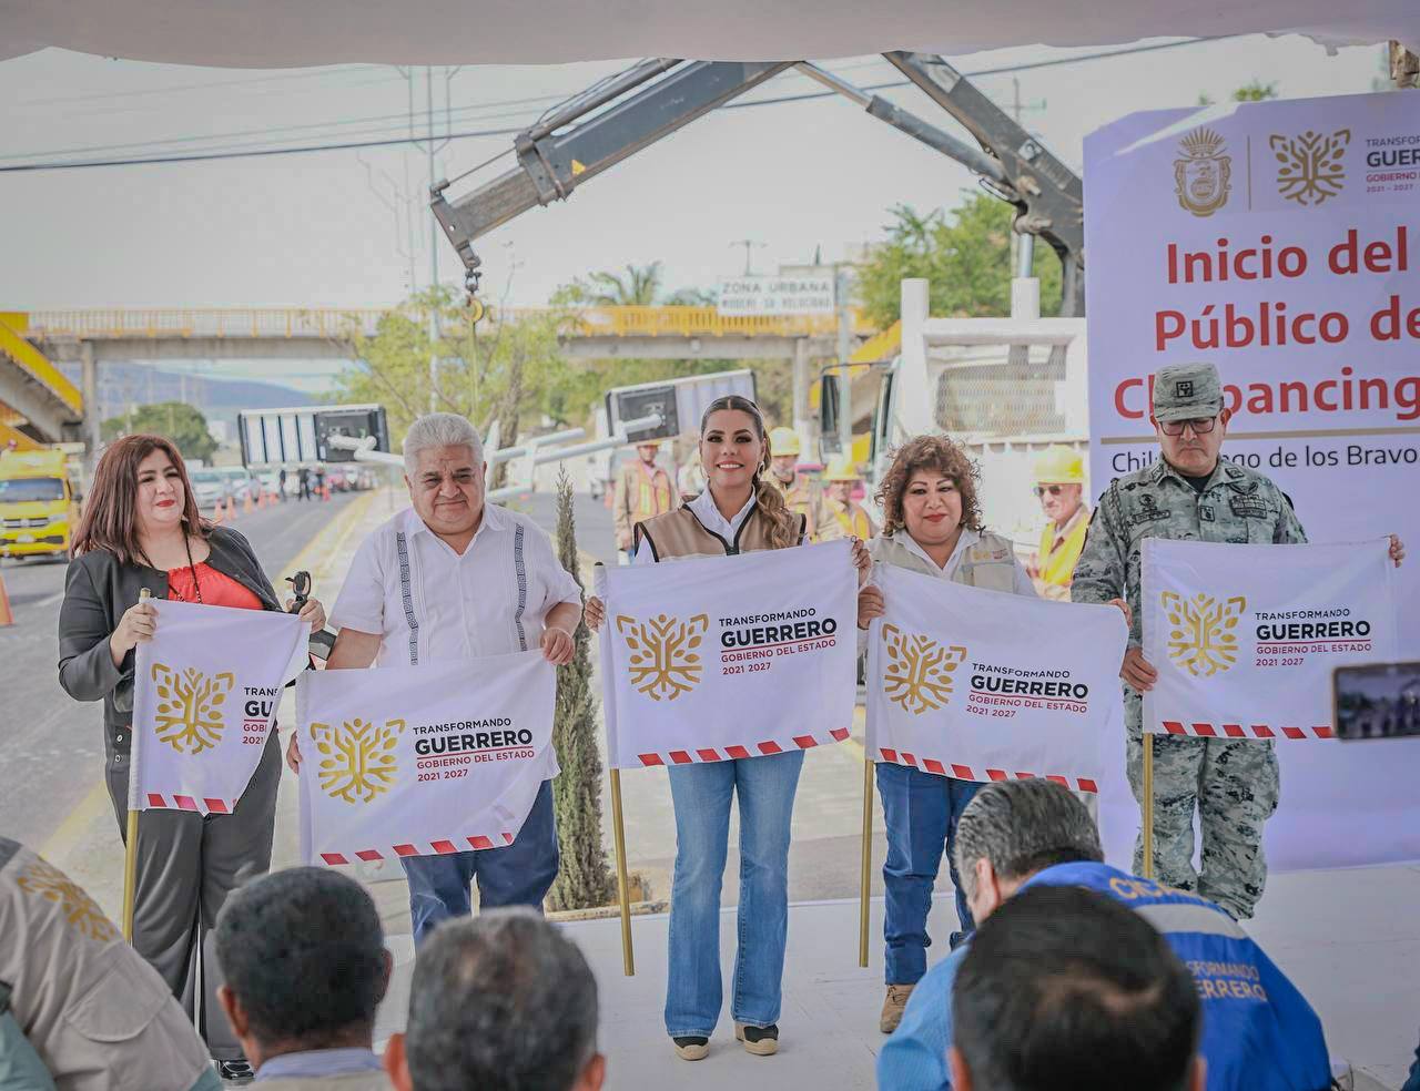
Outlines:
<svg viewBox="0 0 1420 1091"><path fill-rule="evenodd" d="M378 332L382 318L416 311L376 308L241 308L241 309L84 309L33 311L31 336L80 339L128 338L325 338L346 340L359 331ZM713 306L586 306L571 311L503 308L490 321L564 315L572 336L717 338L826 336L838 329L835 315L720 315ZM875 332L853 315L855 333Z"/></svg>

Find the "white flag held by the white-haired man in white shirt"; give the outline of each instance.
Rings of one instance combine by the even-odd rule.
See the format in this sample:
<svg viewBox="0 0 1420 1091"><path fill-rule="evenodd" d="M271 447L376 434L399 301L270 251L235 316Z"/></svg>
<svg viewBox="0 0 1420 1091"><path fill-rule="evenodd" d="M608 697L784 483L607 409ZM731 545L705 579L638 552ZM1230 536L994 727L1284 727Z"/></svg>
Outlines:
<svg viewBox="0 0 1420 1091"><path fill-rule="evenodd" d="M513 844L557 776L542 651L310 671L295 688L301 853L349 864Z"/></svg>

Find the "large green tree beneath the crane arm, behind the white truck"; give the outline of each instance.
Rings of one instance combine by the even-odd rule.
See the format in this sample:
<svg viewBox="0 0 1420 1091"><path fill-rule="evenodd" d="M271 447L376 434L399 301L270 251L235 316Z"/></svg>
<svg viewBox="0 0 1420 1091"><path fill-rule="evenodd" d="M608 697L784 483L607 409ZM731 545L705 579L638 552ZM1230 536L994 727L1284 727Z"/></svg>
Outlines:
<svg viewBox="0 0 1420 1091"><path fill-rule="evenodd" d="M966 193L950 214L926 216L912 206L890 210L888 238L858 268L858 295L868 319L885 329L897 321L902 281L926 277L933 315L991 318L1011 314L1011 220L1015 209L985 193ZM1041 312L1058 314L1061 264L1045 243L1035 247Z"/></svg>

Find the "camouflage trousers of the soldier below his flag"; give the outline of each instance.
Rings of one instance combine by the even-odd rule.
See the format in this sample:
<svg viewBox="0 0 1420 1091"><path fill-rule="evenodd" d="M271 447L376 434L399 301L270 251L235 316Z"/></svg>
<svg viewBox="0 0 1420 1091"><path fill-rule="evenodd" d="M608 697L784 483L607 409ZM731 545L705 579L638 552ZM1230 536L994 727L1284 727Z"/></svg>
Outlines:
<svg viewBox="0 0 1420 1091"><path fill-rule="evenodd" d="M1125 688L1129 787L1143 806L1143 699ZM1217 902L1237 919L1252 916L1267 882L1262 823L1279 796L1277 752L1269 741L1154 735L1154 878ZM1203 834L1201 867L1193 867L1193 814ZM1135 840L1135 874L1143 870L1143 831Z"/></svg>

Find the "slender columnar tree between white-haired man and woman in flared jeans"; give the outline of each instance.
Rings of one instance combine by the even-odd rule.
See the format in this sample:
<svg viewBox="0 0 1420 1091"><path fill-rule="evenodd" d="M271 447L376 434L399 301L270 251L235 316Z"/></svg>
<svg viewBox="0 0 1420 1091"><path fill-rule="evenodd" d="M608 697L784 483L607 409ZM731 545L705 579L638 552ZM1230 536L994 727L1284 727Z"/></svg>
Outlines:
<svg viewBox="0 0 1420 1091"><path fill-rule="evenodd" d="M572 482L567 470L557 480L557 553L578 586L581 559ZM602 759L596 751L596 701L592 695L591 637L579 624L577 651L557 672L552 745L562 773L552 782L557 841L562 864L548 892L551 909L586 909L612 901L615 887L602 844Z"/></svg>

